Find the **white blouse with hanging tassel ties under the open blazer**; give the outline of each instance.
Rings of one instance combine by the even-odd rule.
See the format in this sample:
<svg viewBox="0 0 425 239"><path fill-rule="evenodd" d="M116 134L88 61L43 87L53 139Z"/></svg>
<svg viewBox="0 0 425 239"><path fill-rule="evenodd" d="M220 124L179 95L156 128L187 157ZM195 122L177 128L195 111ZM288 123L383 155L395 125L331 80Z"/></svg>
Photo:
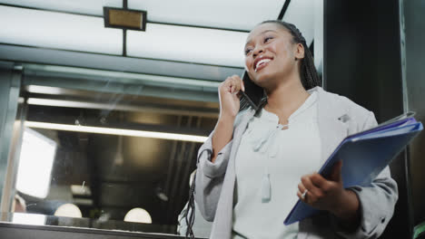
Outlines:
<svg viewBox="0 0 425 239"><path fill-rule="evenodd" d="M298 223L283 221L298 200L301 176L320 167L316 100L313 91L288 129L267 110L249 122L235 159L233 238L296 238Z"/></svg>

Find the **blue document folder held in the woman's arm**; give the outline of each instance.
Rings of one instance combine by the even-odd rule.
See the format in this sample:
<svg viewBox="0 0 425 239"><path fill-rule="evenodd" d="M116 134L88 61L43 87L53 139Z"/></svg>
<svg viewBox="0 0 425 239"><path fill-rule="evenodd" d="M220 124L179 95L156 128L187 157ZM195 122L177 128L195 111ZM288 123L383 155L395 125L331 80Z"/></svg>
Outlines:
<svg viewBox="0 0 425 239"><path fill-rule="evenodd" d="M328 177L333 165L342 160L341 176L344 188L368 186L422 129L422 124L408 113L375 128L351 135L342 140L319 173ZM291 225L318 212L320 211L298 200L283 224Z"/></svg>

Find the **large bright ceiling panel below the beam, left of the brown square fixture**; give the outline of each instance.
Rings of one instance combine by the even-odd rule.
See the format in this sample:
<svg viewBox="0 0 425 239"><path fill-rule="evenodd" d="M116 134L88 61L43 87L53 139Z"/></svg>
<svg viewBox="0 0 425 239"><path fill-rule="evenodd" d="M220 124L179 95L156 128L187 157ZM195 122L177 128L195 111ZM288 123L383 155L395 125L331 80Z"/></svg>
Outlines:
<svg viewBox="0 0 425 239"><path fill-rule="evenodd" d="M91 53L123 53L123 31L101 17L0 6L0 42Z"/></svg>

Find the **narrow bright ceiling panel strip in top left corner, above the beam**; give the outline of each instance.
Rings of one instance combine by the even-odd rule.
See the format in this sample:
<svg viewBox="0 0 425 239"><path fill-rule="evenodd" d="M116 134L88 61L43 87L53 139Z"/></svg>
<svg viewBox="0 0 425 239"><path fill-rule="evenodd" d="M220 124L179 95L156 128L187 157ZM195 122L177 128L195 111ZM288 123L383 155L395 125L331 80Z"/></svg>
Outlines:
<svg viewBox="0 0 425 239"><path fill-rule="evenodd" d="M95 15L104 15L104 6L123 7L123 0L0 0L0 3Z"/></svg>

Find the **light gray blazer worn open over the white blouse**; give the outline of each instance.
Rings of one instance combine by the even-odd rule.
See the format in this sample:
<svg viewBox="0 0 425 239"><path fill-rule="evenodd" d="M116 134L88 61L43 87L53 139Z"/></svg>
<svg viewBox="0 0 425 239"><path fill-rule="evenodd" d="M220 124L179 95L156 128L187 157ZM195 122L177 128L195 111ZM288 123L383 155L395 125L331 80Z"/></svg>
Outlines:
<svg viewBox="0 0 425 239"><path fill-rule="evenodd" d="M341 140L350 134L370 129L377 125L373 113L351 100L323 91L311 89L318 95L318 124L321 136L321 160L331 156ZM235 119L233 138L211 162L212 136L204 142L198 152L195 200L203 217L213 221L210 238L232 237L233 189L235 184L234 158L254 110L244 110ZM312 238L377 238L385 229L398 199L396 182L386 167L370 186L351 187L360 199L361 225L355 232L345 232L337 218L321 213L300 222L299 239ZM283 222L282 222L283 224Z"/></svg>

